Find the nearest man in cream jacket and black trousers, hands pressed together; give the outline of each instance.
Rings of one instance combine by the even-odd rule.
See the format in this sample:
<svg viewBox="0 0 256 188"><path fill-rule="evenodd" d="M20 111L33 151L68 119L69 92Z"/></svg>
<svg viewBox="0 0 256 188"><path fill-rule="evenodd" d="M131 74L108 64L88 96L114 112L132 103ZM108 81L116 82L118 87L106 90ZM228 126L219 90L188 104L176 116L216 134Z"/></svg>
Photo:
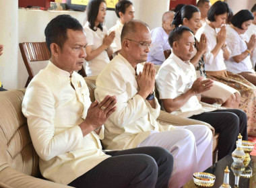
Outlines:
<svg viewBox="0 0 256 188"><path fill-rule="evenodd" d="M58 15L44 30L49 64L30 82L22 102L40 173L72 187L167 187L173 158L160 147L104 152L104 122L115 96L90 101L86 81L75 71L86 58L87 38L70 15Z"/></svg>

